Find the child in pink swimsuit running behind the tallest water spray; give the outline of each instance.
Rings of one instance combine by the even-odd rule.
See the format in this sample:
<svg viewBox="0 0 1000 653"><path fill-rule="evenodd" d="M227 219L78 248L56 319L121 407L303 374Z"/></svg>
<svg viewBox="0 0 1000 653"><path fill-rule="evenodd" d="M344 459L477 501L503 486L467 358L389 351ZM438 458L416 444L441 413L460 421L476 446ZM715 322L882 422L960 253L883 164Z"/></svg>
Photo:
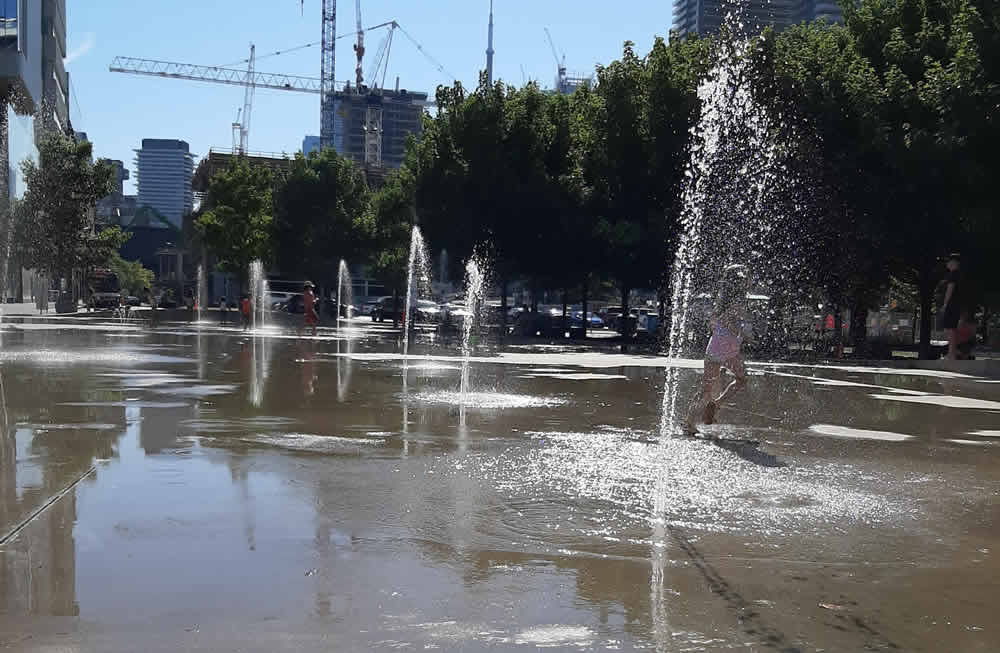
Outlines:
<svg viewBox="0 0 1000 653"><path fill-rule="evenodd" d="M723 270L718 300L712 311L712 337L705 349L702 390L691 401L691 409L684 424L687 435L697 433L699 417L705 424L715 422L719 403L729 393L738 392L746 385L746 370L743 368L740 347L746 332L748 283L746 266L730 265ZM715 385L722 377L723 368L729 370L733 380L721 394L715 396Z"/></svg>

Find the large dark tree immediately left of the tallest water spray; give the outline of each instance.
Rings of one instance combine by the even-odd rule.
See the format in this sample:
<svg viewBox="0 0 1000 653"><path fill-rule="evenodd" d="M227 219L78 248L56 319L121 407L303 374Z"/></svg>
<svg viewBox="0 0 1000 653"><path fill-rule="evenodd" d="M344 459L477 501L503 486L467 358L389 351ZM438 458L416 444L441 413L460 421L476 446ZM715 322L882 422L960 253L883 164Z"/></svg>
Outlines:
<svg viewBox="0 0 1000 653"><path fill-rule="evenodd" d="M574 149L588 221L602 247L596 259L621 289L664 286L673 259L688 132L697 118L695 85L703 42L657 40L640 58L626 42L622 58L598 68L597 86L574 98Z"/></svg>

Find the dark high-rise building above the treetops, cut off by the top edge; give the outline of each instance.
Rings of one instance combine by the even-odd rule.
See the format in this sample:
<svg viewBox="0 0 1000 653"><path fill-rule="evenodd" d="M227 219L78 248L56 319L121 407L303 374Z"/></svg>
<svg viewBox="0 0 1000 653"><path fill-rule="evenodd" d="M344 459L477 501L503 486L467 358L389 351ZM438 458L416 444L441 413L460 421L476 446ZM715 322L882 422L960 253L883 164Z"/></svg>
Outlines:
<svg viewBox="0 0 1000 653"><path fill-rule="evenodd" d="M831 23L843 20L836 0L743 0L741 5L744 24L751 32L768 26L781 30L817 18L826 18ZM714 34L732 9L723 0L674 0L673 32L680 36Z"/></svg>

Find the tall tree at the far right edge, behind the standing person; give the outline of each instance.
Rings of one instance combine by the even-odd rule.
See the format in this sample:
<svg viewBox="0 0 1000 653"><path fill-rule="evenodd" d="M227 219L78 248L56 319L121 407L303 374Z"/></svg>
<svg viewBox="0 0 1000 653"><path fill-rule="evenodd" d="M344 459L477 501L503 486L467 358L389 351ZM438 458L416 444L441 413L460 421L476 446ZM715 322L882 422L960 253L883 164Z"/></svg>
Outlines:
<svg viewBox="0 0 1000 653"><path fill-rule="evenodd" d="M984 156L977 143L980 136L995 143L997 133L996 78L987 72L995 74L990 59L997 54L990 16L987 27L969 0L845 6L847 29L883 93L884 167L875 172L887 199L892 267L920 292L922 356L930 354L940 259L967 241L981 211L975 200L995 171L995 157Z"/></svg>

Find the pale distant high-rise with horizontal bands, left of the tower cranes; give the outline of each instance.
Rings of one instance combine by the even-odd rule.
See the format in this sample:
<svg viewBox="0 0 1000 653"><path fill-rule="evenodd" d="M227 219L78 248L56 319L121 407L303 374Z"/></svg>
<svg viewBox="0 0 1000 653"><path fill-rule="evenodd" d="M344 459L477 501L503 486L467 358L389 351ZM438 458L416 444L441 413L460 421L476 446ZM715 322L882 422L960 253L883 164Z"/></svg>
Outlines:
<svg viewBox="0 0 1000 653"><path fill-rule="evenodd" d="M194 209L191 177L194 157L186 141L161 138L142 139L136 150L138 207L156 209L176 227Z"/></svg>

